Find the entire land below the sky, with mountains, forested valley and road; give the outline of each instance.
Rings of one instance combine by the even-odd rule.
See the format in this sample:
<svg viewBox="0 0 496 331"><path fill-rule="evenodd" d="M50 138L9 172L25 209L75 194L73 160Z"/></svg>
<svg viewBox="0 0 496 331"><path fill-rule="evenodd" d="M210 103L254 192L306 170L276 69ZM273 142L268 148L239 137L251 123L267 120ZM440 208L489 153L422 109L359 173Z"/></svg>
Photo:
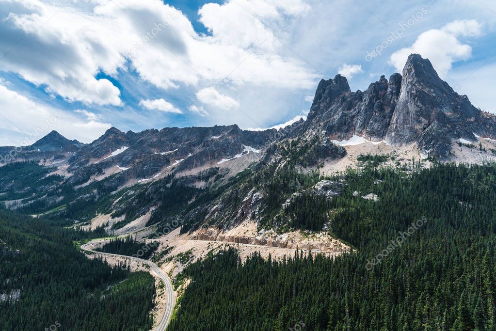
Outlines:
<svg viewBox="0 0 496 331"><path fill-rule="evenodd" d="M0 155L0 330L496 330L496 116L420 55L279 130Z"/></svg>

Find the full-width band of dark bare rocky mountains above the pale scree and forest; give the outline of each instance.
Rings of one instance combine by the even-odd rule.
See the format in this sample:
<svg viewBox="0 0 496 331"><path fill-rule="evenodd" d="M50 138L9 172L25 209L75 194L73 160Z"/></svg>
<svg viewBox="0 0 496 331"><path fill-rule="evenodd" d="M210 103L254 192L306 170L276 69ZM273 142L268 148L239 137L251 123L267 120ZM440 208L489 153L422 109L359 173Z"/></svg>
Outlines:
<svg viewBox="0 0 496 331"><path fill-rule="evenodd" d="M402 74L381 76L365 91L352 92L345 77L321 80L306 121L279 131L246 131L237 125L150 129L122 132L112 127L90 144L68 140L52 131L17 153L17 160L67 159L72 181L131 168L121 184L147 179L158 173L190 171L202 167L235 168L240 157L259 160L272 143L302 138L318 142L310 164L334 157L333 143L359 136L372 142L401 147L415 145L422 156L454 160L455 143L496 137L496 117L478 110L467 96L458 95L437 75L429 59L408 57ZM8 149L8 148L7 148ZM11 148L13 149L13 148ZM258 152L260 150L260 152ZM1 148L6 151L6 148ZM58 153L59 156L55 155ZM2 153L7 154L7 153ZM338 153L339 154L339 153ZM341 157L346 153L340 153ZM265 156L267 158L268 156ZM236 160L238 163L234 166ZM5 162L8 163L8 162ZM169 170L167 170L169 169Z"/></svg>

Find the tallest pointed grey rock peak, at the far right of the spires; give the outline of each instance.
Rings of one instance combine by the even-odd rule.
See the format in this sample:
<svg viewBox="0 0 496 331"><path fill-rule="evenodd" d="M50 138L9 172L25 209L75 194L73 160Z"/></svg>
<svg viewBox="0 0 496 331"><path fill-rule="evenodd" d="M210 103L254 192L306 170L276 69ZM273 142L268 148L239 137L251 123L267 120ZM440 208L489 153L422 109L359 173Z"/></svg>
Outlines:
<svg viewBox="0 0 496 331"><path fill-rule="evenodd" d="M494 117L453 91L429 59L410 55L386 140L394 145L416 142L424 153L446 158L453 140L475 139L474 132L494 137Z"/></svg>

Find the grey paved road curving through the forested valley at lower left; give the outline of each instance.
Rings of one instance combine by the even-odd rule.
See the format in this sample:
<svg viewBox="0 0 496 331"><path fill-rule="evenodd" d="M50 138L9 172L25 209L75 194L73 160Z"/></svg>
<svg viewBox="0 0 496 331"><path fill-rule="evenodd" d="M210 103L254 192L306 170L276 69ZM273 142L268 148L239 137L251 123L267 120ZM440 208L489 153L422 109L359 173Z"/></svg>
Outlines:
<svg viewBox="0 0 496 331"><path fill-rule="evenodd" d="M169 322L171 321L172 311L174 310L174 306L176 304L176 297L174 296L174 288L172 287L171 280L169 279L169 277L167 275L165 275L162 272L162 270L159 267L157 267L157 265L155 263L153 263L151 261L143 260L140 258L135 258L135 257L127 256L127 255L97 252L97 251L92 250L91 248L88 248L91 245L104 243L106 241L109 241L109 240L91 241L87 244L81 245L81 249L86 251L86 252L92 252L92 253L96 253L96 254L118 256L118 257L123 257L126 259L132 259L132 260L136 260L136 261L142 262L142 263L150 266L151 270L153 270L155 272L155 274L160 279L162 279L162 281L164 282L166 291L167 291L167 294L166 294L167 295L167 303L166 303L165 312L164 312L164 315L162 316L162 319L160 320L160 323L158 324L157 328L155 328L155 331L165 331L167 329L167 326L169 325Z"/></svg>

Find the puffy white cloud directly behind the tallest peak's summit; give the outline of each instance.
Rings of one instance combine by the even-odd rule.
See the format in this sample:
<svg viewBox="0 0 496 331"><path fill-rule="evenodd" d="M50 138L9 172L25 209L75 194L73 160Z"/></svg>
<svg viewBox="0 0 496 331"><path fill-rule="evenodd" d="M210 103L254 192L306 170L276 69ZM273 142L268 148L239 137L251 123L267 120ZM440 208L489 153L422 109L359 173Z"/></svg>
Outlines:
<svg viewBox="0 0 496 331"><path fill-rule="evenodd" d="M472 56L470 45L462 44L458 38L477 37L481 33L481 24L476 20L452 21L441 29L422 33L411 47L393 53L389 63L401 72L408 55L418 53L429 58L439 76L445 78L453 62L467 60Z"/></svg>

